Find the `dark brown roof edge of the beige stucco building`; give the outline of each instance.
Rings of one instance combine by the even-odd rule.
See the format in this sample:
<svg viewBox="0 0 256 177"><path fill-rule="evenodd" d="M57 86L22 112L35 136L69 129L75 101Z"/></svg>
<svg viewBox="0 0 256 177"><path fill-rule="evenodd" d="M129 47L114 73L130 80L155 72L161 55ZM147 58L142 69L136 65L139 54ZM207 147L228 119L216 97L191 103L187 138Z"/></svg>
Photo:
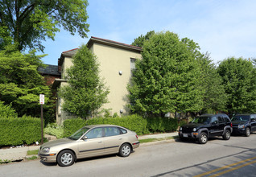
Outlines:
<svg viewBox="0 0 256 177"><path fill-rule="evenodd" d="M119 43L116 42L114 40L109 40L109 39L102 39L102 38L97 38L97 37L91 37L87 43L87 47L92 47L93 43L101 43L107 46L112 46L112 47L118 47L118 48L122 48L128 51L136 51L136 52L141 52L142 51L142 47L137 47L137 46L132 46L126 43ZM63 51L60 55L60 65L63 64L64 62L64 57L72 57L76 54L76 51L78 50L78 48L74 48L72 50L69 51Z"/></svg>

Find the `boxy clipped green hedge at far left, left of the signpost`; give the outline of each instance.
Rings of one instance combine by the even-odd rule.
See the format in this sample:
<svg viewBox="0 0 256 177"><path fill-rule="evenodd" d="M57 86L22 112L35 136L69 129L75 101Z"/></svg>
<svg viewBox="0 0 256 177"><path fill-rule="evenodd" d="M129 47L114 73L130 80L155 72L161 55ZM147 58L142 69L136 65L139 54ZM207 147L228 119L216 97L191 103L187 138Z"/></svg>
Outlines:
<svg viewBox="0 0 256 177"><path fill-rule="evenodd" d="M0 118L0 146L32 144L41 139L41 121L35 117Z"/></svg>

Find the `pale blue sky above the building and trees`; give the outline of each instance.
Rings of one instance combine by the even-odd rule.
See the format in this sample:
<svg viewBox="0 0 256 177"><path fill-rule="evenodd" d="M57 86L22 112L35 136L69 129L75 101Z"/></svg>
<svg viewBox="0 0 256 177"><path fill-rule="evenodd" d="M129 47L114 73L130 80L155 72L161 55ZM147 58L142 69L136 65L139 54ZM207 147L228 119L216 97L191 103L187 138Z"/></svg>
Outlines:
<svg viewBox="0 0 256 177"><path fill-rule="evenodd" d="M63 51L91 36L133 43L148 31L171 31L198 43L213 63L228 57L256 58L255 0L89 0L88 38L61 29L43 42L44 64L58 64ZM40 53L38 53L40 54Z"/></svg>

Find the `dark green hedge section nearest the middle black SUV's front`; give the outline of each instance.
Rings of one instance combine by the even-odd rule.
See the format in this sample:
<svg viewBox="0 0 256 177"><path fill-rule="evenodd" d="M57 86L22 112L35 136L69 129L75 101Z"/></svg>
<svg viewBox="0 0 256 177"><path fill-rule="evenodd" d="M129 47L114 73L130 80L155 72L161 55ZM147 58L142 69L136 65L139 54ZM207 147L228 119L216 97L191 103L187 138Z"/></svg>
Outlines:
<svg viewBox="0 0 256 177"><path fill-rule="evenodd" d="M147 129L151 132L175 131L178 128L178 121L169 117L147 117Z"/></svg>

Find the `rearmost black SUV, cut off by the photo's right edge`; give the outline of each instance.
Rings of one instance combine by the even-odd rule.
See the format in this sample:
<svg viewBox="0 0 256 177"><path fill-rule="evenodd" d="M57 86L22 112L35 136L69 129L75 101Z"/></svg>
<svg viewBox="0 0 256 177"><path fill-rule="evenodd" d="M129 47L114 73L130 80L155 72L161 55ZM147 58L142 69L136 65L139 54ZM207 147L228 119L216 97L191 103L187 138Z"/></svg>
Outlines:
<svg viewBox="0 0 256 177"><path fill-rule="evenodd" d="M238 114L232 119L233 134L243 134L246 137L256 131L256 114Z"/></svg>

